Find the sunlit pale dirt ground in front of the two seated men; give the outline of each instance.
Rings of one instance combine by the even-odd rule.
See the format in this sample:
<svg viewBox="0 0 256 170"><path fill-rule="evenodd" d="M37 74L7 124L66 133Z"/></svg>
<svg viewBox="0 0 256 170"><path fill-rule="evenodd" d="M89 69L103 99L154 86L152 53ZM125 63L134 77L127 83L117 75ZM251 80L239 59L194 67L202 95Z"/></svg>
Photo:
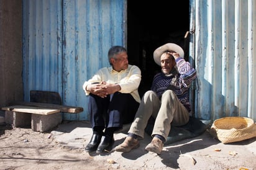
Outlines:
<svg viewBox="0 0 256 170"><path fill-rule="evenodd" d="M130 153L99 155L84 151L91 137L88 122L64 122L46 133L0 129L0 169L256 169L256 138L224 145L206 131L165 146L158 155L145 151L151 140L146 135ZM114 146L125 136L115 134Z"/></svg>

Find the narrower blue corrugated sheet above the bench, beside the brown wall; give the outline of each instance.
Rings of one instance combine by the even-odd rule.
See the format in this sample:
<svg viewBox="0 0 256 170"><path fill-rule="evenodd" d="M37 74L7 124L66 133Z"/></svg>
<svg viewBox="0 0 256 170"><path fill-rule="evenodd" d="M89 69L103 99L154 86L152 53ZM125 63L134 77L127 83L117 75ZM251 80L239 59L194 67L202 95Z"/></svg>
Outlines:
<svg viewBox="0 0 256 170"><path fill-rule="evenodd" d="M24 100L30 90L62 96L62 1L23 1Z"/></svg>

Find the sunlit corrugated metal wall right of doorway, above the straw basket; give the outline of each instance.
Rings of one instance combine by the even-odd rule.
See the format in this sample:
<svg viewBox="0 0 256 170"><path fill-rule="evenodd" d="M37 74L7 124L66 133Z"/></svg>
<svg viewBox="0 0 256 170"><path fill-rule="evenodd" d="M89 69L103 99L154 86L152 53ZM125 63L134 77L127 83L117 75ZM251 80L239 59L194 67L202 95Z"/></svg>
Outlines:
<svg viewBox="0 0 256 170"><path fill-rule="evenodd" d="M196 116L256 121L256 1L194 0L191 7Z"/></svg>

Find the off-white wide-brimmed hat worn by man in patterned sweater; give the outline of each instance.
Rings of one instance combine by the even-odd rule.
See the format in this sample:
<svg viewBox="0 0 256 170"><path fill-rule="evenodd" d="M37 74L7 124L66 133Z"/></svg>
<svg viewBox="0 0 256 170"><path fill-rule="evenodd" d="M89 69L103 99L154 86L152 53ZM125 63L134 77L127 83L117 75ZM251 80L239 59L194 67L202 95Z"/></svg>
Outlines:
<svg viewBox="0 0 256 170"><path fill-rule="evenodd" d="M184 58L184 51L180 46L176 45L175 43L166 43L165 45L158 47L153 52L153 60L155 60L155 63L157 63L159 66L161 66L161 56L165 51L175 51L180 55L180 57Z"/></svg>

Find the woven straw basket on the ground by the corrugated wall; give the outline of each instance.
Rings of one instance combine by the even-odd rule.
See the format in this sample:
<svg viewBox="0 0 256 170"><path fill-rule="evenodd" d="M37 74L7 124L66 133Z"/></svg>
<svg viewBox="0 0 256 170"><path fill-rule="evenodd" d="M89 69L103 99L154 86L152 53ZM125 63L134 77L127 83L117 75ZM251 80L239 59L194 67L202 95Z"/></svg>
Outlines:
<svg viewBox="0 0 256 170"><path fill-rule="evenodd" d="M232 143L254 138L256 124L247 117L224 117L215 120L209 132L222 143Z"/></svg>

